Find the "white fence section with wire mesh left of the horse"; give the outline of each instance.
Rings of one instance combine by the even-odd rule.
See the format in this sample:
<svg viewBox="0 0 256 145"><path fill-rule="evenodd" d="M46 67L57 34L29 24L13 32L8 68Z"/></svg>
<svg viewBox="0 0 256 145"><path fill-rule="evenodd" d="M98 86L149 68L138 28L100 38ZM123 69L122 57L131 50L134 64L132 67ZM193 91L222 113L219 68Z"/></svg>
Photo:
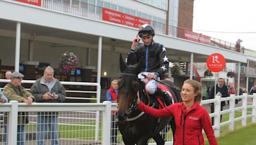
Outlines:
<svg viewBox="0 0 256 145"><path fill-rule="evenodd" d="M9 103L1 104L1 111L8 113L6 115L6 119L8 120L8 132L5 133L8 136L8 144L14 145L17 144L17 125L18 124L18 113L19 112L29 112L29 113L36 113L36 112L58 112L60 113L58 116L80 116L79 113L87 113L86 111L94 111L94 112L100 112L100 123L102 123L100 128L97 128L95 125L93 126L93 130L96 132L101 131L101 134L95 134L97 136L90 135L90 137L85 137L81 135L73 135L77 134L77 132L86 132L89 130L80 130L80 127L87 126L90 127L90 124L95 123L92 120L87 120L86 118L84 120L77 120L76 118L72 118L72 120L61 120L59 118L59 128L60 125L61 130L59 130L61 136L60 136L60 142L61 144L76 144L76 142L81 142L81 144L102 144L102 142L106 142L106 144L110 144L110 126L111 126L111 102L104 102L104 103L33 103L31 106L26 106L24 103L18 103L15 100L11 100ZM81 112L83 111L83 112ZM95 116L91 116L91 118L95 118ZM4 120L4 119L3 119ZM61 122L60 122L61 121ZM89 124L89 125L84 125ZM72 125L72 127L68 127ZM26 134L35 134L36 128L33 126L33 123L29 122L26 124L26 128L28 129L28 132ZM76 128L78 126L79 128ZM65 128L67 128L65 130ZM70 130L71 128L71 130ZM67 137L68 133L72 131L72 134ZM92 128L90 129L92 131ZM4 134L4 133L3 133ZM70 134L70 133L69 133ZM28 136L28 135L27 135ZM33 136L33 135L32 135ZM34 135L35 136L35 135ZM93 139L92 139L93 137ZM35 140L33 139L26 139L26 143L29 144L35 144ZM35 138L35 137L30 137ZM109 142L109 143L108 143ZM79 143L80 144L80 143Z"/></svg>

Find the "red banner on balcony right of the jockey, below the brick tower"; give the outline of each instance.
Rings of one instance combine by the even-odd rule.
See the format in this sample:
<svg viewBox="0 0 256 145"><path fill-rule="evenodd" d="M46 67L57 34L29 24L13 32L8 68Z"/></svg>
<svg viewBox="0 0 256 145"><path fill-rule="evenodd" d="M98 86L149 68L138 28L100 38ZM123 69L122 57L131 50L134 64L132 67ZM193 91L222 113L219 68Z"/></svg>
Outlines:
<svg viewBox="0 0 256 145"><path fill-rule="evenodd" d="M184 39L188 39L191 41L196 41L198 43L204 43L206 45L211 45L211 37L205 36L203 34L198 34L192 31L184 31Z"/></svg>

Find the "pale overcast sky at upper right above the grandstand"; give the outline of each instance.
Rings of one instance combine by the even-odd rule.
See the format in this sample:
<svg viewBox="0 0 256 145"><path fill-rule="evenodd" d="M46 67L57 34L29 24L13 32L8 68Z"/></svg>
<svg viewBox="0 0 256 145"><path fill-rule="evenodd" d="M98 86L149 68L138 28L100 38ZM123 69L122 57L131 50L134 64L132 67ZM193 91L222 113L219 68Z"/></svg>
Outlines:
<svg viewBox="0 0 256 145"><path fill-rule="evenodd" d="M256 0L195 0L193 32L256 51Z"/></svg>

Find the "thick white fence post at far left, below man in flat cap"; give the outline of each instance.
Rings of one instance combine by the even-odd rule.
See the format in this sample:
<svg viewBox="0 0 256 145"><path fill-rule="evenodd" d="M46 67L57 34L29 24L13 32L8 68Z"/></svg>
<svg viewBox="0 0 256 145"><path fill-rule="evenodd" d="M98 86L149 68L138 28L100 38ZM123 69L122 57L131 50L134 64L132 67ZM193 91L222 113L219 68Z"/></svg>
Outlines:
<svg viewBox="0 0 256 145"><path fill-rule="evenodd" d="M8 116L8 144L17 144L17 125L18 125L18 101L11 100L11 111Z"/></svg>

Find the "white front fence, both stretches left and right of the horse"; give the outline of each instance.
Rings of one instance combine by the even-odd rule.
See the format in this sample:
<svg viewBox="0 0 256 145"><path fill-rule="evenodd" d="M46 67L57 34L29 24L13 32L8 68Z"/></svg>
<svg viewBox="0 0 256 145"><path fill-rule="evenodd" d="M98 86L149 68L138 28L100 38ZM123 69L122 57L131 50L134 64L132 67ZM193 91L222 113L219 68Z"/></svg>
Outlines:
<svg viewBox="0 0 256 145"><path fill-rule="evenodd" d="M236 105L236 99L241 99L242 104L239 103L240 106ZM248 99L252 99L252 102L248 103ZM220 111L221 101L229 100L229 108ZM202 106L208 105L210 103L214 103L214 113L209 114L210 117L214 117L214 134L216 137L220 137L220 127L224 125L228 125L229 130L234 130L234 125L236 121L241 120L241 125L246 126L247 118L252 118L252 122L256 123L256 93L253 95L247 95L243 93L243 95L235 96L231 95L230 97L221 98L220 96L216 96L215 99L202 100ZM112 105L112 106L111 106ZM102 142L106 142L106 145L110 144L111 139L111 110L116 110L116 104L111 104L110 102L104 103L33 103L32 106L26 106L24 103L17 103L16 101L12 101L10 103L0 104L1 111L7 112L8 115L8 142L9 144L16 144L16 135L17 135L17 117L18 112L29 112L36 113L41 111L56 111L59 112L59 127L61 126L61 130L59 130L60 134L60 142L62 144L75 144L75 142L79 141L81 144L84 143L92 143L93 144L102 144ZM227 106L225 106L227 107ZM248 109L252 108L252 113L248 113ZM89 112L88 112L89 111ZM96 116L91 114L90 117L82 116L81 113L88 114L91 111L100 112L100 127L96 128L93 118ZM235 111L241 111L242 115L235 118ZM80 114L77 114L80 113ZM220 115L228 114L228 120L220 122ZM69 119L66 119L69 118ZM83 119L82 119L83 118ZM29 123L26 124L26 128L30 128L27 134L36 134L36 127L33 127L35 123L31 121L29 118ZM86 123L89 121L89 123ZM71 127L70 127L71 126ZM79 130L76 128L83 128L84 126L93 127L89 129ZM100 134L92 135L92 137L82 137L76 135L76 132L92 132L92 130L96 131ZM74 135L68 136L68 132L74 132ZM93 131L93 132L94 132ZM31 133L32 132L32 133ZM63 135L64 134L64 135ZM31 137L33 138L33 137ZM92 139L93 138L93 139ZM33 144L35 141L27 141L29 144ZM122 142L120 135L118 135L118 142ZM150 143L155 144L155 143ZM172 144L172 142L168 141L168 144Z"/></svg>

